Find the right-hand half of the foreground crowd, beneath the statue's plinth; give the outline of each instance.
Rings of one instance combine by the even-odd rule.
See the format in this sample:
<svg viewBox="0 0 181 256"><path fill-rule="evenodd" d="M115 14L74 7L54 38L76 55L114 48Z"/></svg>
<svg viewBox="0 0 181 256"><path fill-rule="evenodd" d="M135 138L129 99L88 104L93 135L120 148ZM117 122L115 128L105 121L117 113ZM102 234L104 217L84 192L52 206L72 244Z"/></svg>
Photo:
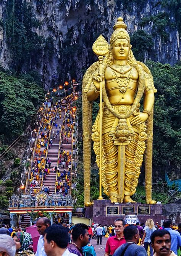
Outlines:
<svg viewBox="0 0 181 256"><path fill-rule="evenodd" d="M136 225L126 225L123 219L118 218L114 226L99 224L96 228L93 226L92 229L93 233L97 233L97 245L102 244L102 236L108 237L105 256L146 256L148 251L150 256L180 256L181 223L177 229L173 228L170 219L165 220L162 226L158 222L155 225L150 218L147 219L145 225L144 223L140 225L139 222Z"/></svg>

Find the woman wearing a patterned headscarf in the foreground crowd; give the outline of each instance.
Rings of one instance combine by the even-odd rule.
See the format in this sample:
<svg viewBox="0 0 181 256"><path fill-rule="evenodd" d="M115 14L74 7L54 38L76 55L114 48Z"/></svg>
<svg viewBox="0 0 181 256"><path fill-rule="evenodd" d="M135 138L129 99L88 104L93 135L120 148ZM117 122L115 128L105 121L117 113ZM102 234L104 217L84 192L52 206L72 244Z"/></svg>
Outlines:
<svg viewBox="0 0 181 256"><path fill-rule="evenodd" d="M13 240L16 243L16 255L29 255L34 256L33 241L29 233L16 232L13 234Z"/></svg>

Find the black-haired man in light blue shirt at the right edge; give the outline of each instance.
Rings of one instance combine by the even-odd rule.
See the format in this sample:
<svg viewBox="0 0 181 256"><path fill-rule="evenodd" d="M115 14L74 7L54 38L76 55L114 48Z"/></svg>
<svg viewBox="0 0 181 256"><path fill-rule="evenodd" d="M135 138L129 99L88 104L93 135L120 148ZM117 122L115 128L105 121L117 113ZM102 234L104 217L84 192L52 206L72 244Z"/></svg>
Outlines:
<svg viewBox="0 0 181 256"><path fill-rule="evenodd" d="M171 251L177 255L177 249L179 249L179 246L181 246L181 236L178 231L172 230L173 224L171 219L164 220L163 226L171 236Z"/></svg>

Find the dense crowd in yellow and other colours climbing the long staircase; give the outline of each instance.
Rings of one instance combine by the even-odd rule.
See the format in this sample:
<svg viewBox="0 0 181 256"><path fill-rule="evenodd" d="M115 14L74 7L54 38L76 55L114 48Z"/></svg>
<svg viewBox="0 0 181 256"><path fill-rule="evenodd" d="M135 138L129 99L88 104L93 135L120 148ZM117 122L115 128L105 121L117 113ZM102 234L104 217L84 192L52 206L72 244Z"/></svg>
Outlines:
<svg viewBox="0 0 181 256"><path fill-rule="evenodd" d="M36 145L35 157L29 177L29 194L35 195L43 191L49 194L50 188L43 185L43 180L50 174L50 168L56 173L55 191L56 194L66 196L70 193L71 187L71 151L65 151L63 144L69 144L69 138L72 136L75 114L72 110L73 94L65 98L67 106L62 106L61 101L55 103L47 109L43 118L43 123L39 128L39 134ZM57 120L62 118L61 111L65 112L62 126L57 124ZM52 126L55 126L56 132L50 135ZM59 134L61 133L61 134ZM60 156L58 166L51 166L50 158L46 158L47 150L51 150L53 141L60 139ZM63 167L63 171L60 168Z"/></svg>

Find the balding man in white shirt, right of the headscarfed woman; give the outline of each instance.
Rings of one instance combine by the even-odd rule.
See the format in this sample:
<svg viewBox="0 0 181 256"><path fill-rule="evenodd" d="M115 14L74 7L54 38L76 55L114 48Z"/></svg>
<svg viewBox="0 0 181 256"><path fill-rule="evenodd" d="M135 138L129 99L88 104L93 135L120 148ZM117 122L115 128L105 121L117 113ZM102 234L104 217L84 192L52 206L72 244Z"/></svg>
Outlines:
<svg viewBox="0 0 181 256"><path fill-rule="evenodd" d="M38 240L37 251L35 255L47 256L47 254L44 251L44 235L45 235L46 228L48 228L48 226L51 226L51 222L48 218L42 217L37 220L36 226L37 226L37 231L40 234L40 237Z"/></svg>

